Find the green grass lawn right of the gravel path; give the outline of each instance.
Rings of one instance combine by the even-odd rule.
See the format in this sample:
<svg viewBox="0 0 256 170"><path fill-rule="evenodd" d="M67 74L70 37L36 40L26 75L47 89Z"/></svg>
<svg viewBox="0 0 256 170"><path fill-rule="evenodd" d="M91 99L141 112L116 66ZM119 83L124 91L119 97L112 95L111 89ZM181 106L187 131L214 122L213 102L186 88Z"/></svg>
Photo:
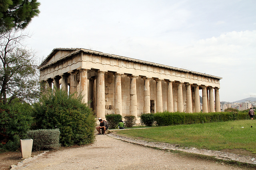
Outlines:
<svg viewBox="0 0 256 170"><path fill-rule="evenodd" d="M255 120L152 127L116 131L116 133L136 139L178 144L184 147L210 150L244 149L256 153Z"/></svg>

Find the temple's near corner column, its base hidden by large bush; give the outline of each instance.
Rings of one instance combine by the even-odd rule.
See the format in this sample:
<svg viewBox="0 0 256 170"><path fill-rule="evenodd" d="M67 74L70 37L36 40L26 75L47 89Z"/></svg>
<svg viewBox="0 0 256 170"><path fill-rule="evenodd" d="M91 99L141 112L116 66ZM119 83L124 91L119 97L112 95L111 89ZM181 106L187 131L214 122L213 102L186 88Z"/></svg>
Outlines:
<svg viewBox="0 0 256 170"><path fill-rule="evenodd" d="M80 69L80 94L83 96L82 102L88 102L88 84L87 84L87 69Z"/></svg>

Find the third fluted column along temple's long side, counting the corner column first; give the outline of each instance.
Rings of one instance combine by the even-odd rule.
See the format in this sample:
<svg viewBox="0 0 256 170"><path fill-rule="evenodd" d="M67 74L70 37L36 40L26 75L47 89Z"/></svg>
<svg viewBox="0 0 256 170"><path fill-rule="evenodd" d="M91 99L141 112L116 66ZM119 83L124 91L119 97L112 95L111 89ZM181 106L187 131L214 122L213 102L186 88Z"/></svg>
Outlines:
<svg viewBox="0 0 256 170"><path fill-rule="evenodd" d="M115 113L122 115L122 74L115 74Z"/></svg>

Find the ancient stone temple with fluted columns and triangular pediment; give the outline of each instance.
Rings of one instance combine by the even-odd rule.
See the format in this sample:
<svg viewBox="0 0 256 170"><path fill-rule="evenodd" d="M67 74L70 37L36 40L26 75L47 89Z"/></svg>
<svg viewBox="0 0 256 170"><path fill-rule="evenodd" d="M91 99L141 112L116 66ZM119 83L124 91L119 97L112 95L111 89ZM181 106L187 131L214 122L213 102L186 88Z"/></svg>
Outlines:
<svg viewBox="0 0 256 170"><path fill-rule="evenodd" d="M97 117L220 111L221 77L87 49L54 49L40 64L43 88L82 93ZM215 100L214 100L215 99Z"/></svg>

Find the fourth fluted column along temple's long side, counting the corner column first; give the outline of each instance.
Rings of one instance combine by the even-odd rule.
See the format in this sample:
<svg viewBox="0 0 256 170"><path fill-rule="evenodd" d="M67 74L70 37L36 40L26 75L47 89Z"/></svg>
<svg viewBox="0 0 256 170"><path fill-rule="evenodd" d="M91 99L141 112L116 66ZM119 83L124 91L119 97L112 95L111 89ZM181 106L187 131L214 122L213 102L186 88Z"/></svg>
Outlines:
<svg viewBox="0 0 256 170"><path fill-rule="evenodd" d="M137 91L136 91L136 76L130 76L130 115L137 116Z"/></svg>

